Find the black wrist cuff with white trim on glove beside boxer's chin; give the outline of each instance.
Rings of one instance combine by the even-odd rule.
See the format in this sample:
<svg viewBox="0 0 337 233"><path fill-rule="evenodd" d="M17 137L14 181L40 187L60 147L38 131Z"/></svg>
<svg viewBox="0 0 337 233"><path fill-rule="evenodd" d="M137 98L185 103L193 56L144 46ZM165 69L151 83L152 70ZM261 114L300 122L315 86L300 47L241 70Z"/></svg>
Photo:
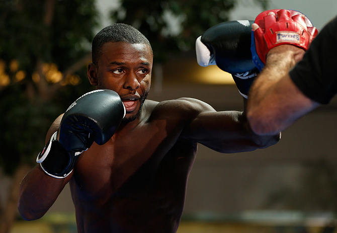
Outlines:
<svg viewBox="0 0 337 233"><path fill-rule="evenodd" d="M62 144L56 140L56 133L38 154L36 162L40 164L46 174L61 179L72 172L79 152L75 154L66 151Z"/></svg>

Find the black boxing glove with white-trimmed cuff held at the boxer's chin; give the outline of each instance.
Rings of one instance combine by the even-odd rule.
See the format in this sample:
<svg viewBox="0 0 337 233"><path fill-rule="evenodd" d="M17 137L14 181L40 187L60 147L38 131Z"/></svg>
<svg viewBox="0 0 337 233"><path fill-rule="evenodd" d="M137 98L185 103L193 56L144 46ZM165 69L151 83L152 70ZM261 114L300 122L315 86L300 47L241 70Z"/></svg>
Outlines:
<svg viewBox="0 0 337 233"><path fill-rule="evenodd" d="M89 92L70 105L59 126L36 159L43 171L55 178L67 177L78 155L94 141L103 145L125 116L119 95L112 90Z"/></svg>

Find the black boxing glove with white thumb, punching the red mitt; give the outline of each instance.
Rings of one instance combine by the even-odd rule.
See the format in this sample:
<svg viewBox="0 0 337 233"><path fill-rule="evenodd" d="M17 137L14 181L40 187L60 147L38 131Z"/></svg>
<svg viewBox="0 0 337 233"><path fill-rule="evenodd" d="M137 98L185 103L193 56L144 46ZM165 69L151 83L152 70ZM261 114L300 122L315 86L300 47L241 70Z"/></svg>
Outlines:
<svg viewBox="0 0 337 233"><path fill-rule="evenodd" d="M206 30L196 41L198 64L216 64L231 73L239 93L245 98L258 73L250 52L252 23L254 21L248 20L220 23Z"/></svg>

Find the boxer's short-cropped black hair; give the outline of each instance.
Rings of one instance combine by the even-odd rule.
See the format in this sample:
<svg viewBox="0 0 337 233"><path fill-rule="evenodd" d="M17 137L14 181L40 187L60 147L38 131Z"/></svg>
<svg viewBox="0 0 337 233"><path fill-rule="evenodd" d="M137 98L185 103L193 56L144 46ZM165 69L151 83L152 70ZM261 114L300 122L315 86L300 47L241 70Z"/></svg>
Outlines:
<svg viewBox="0 0 337 233"><path fill-rule="evenodd" d="M98 59L102 54L102 46L107 42L127 42L130 44L146 44L152 47L148 39L136 28L127 24L112 24L103 28L93 39L92 59L98 65Z"/></svg>

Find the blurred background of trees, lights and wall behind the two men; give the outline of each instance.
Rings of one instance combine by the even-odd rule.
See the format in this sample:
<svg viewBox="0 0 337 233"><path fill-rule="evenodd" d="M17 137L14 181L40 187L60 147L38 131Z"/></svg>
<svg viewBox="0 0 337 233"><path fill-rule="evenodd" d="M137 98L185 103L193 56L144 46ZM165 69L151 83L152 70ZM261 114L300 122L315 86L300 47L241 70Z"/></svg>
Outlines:
<svg viewBox="0 0 337 233"><path fill-rule="evenodd" d="M77 232L68 185L39 220L17 211L19 184L52 121L83 93L91 41L115 22L154 50L149 99L193 97L242 110L228 73L200 67L195 40L229 20L268 9L305 14L318 29L335 0L0 0L0 233ZM296 122L270 148L221 154L199 145L178 232L337 232L337 100Z"/></svg>

